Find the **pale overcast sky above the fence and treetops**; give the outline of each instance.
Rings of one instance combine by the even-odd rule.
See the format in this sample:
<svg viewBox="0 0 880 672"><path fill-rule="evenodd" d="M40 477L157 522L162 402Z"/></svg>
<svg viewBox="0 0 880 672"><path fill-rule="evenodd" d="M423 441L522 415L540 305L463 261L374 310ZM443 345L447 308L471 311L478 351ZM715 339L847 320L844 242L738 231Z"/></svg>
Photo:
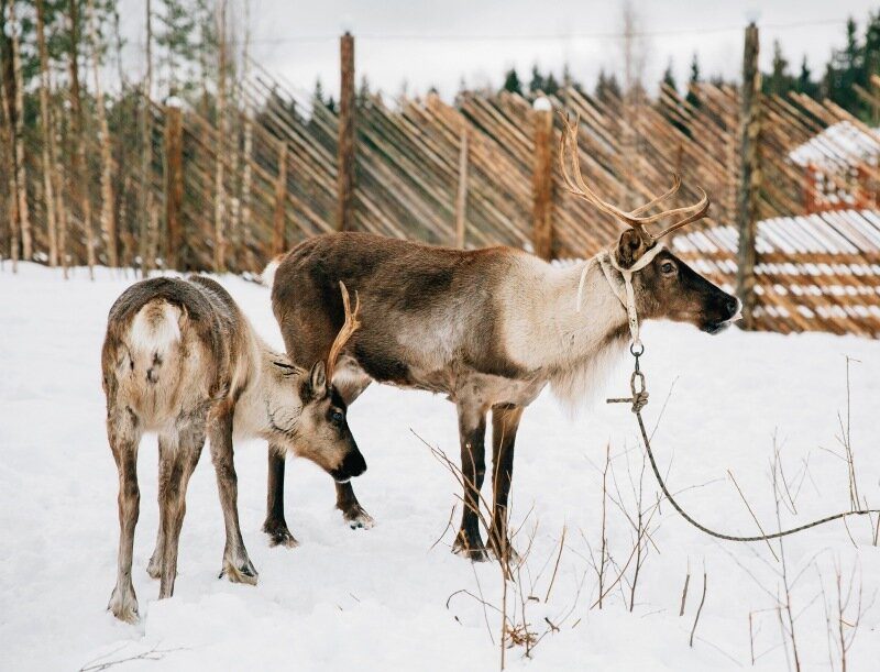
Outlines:
<svg viewBox="0 0 880 672"><path fill-rule="evenodd" d="M143 2L124 0L123 7L130 49L140 49ZM743 27L751 19L761 27L762 67L769 68L779 38L792 70L806 54L818 75L844 43L847 16L861 24L880 2L635 0L634 7L646 33L645 81L653 85L670 59L684 82L694 52L704 76L737 78ZM509 67L527 81L536 63L559 75L568 62L591 87L601 68L622 70L622 2L614 0L251 0L251 14L255 58L302 92L312 90L317 77L326 90L338 90L338 35L344 30L355 36L358 79L366 75L372 88L392 95L404 82L415 93L437 86L446 97L462 78L470 87L498 86ZM130 56L136 62L136 53Z"/></svg>

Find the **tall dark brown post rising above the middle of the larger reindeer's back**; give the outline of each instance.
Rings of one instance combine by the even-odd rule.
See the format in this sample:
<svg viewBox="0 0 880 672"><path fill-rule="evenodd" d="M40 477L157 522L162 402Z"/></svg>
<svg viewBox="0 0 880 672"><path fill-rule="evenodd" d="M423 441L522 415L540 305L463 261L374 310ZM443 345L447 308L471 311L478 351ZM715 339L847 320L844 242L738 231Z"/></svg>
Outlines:
<svg viewBox="0 0 880 672"><path fill-rule="evenodd" d="M337 230L354 223L354 37L345 32L339 40L339 140L337 145Z"/></svg>

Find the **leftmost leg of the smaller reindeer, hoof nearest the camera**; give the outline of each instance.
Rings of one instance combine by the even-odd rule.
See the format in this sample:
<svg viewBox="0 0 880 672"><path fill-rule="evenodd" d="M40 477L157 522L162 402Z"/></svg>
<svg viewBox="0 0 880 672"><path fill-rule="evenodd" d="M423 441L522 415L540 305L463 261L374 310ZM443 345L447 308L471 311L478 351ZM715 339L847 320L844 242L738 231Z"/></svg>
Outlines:
<svg viewBox="0 0 880 672"><path fill-rule="evenodd" d="M107 608L128 623L138 621L138 596L131 581L131 560L134 548L134 527L141 505L138 487L138 444L141 430L136 418L128 410L111 412L107 419L107 436L119 470L119 559L117 585Z"/></svg>

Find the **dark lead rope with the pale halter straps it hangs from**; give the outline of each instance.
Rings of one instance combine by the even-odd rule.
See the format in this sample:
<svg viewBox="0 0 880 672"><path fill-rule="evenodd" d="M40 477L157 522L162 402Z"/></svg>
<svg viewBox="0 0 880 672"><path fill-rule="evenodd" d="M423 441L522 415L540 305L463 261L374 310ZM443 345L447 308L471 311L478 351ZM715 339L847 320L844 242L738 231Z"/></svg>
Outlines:
<svg viewBox="0 0 880 672"><path fill-rule="evenodd" d="M658 245L658 247L659 247L659 245ZM646 256L648 254L650 254L650 258L653 258L657 255L657 252L659 252L659 250L657 250L657 252L654 252L654 250L657 250L657 249L654 247L654 249L649 250L648 253L646 253ZM651 253L653 253L653 254L651 254ZM666 498L669 499L669 503L672 505L672 508L674 508L681 515L682 518L684 518L688 522L690 522L696 529L705 532L706 535L708 535L711 537L715 537L716 539L725 539L727 541L766 541L766 540L769 540L769 539L779 539L780 537L788 537L789 535L794 535L795 532L802 532L802 531L807 530L807 529L810 529L812 527L818 527L820 525L825 525L826 522L831 522L833 520L838 520L840 518L846 518L847 516L868 516L870 514L880 514L880 509L858 509L858 510L845 511L843 514L835 514L834 516L827 516L826 518L821 518L818 520L814 520L812 522L807 522L806 525L801 525L799 527L794 527L794 528L791 528L791 529L788 529L788 530L773 532L772 535L758 535L758 536L755 536L755 537L738 537L738 536L735 536L735 535L724 535L723 532L716 532L715 530L707 528L705 525L702 525L701 522L697 522L696 520L694 520L694 518L692 518L688 514L688 511L685 511L681 507L681 505L679 505L679 503L675 502L675 498L672 496L672 493L669 492L669 488L667 487L667 484L663 481L663 477L660 475L660 470L657 466L657 460L654 460L653 451L651 450L651 441L648 438L648 431L645 429L645 420L642 420L642 418L641 418L641 409L645 408L648 405L648 389L647 389L646 384L645 384L645 374L641 372L641 370L639 367L639 357L642 354L645 354L645 345L639 340L638 316L636 315L636 304L635 304L635 299L634 299L632 280L631 280L631 278L632 278L634 271L638 271L640 268L644 268L647 264L639 263L639 262L641 262L641 260L639 260L639 262L637 262L637 264L634 264L632 268L624 269L624 268L620 268L617 265L617 263L615 263L615 258L614 258L614 254L613 253L606 253L606 254L607 254L607 260L605 257L605 254L603 254L600 257L600 264L601 264L602 271L603 271L603 273L605 275L605 279L608 280L608 284L610 285L610 287L614 290L614 293L617 295L617 298L620 299L620 302L624 304L624 306L627 309L627 317L629 319L629 330L630 330L630 333L632 335L632 342L629 345L629 352L636 360L635 367L632 370L632 375L629 377L629 390L631 393L631 396L627 397L627 398L606 399L606 404L631 404L630 410L632 411L632 414L635 414L636 420L639 423L639 431L641 432L641 440L645 443L645 450L648 453L648 460L651 463L651 470L653 471L653 475L657 478L657 483L660 485L660 489L663 492L663 495L666 496ZM642 258L645 258L645 257L642 257ZM620 296L620 293L618 291L617 286L612 282L610 272L606 267L606 264L608 264L608 263L610 263L610 265L616 271L620 272L622 275L624 276L624 284L626 286L626 295L625 295L626 298ZM636 268L636 265L638 265L638 268ZM583 278L582 278L582 283L583 283ZM579 287L579 289L580 289L580 287ZM580 294L580 291L579 291L579 294ZM579 309L580 309L580 304L581 302L580 302L580 297L579 297L579 301L578 301Z"/></svg>

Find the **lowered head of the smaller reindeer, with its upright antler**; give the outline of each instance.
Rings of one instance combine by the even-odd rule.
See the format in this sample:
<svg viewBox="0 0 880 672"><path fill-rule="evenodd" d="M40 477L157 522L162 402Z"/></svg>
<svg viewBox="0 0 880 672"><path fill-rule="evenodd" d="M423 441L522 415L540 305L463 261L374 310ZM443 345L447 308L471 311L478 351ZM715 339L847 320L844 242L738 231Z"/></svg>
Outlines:
<svg viewBox="0 0 880 672"><path fill-rule="evenodd" d="M360 327L358 321L360 299L355 300L352 312L345 285L340 283L340 287L345 308L345 322L333 341L327 362L317 362L309 372L288 362L273 362L282 370L280 375L296 376L299 383L297 388L290 390L298 396L301 405L298 416L292 422L287 422L293 429L284 430L283 426L272 418L272 412L270 416L273 428L284 434L285 443L295 454L311 460L337 482L344 483L364 473L366 461L358 450L345 420L345 401L330 383L342 348ZM284 373L284 370L287 373Z"/></svg>

